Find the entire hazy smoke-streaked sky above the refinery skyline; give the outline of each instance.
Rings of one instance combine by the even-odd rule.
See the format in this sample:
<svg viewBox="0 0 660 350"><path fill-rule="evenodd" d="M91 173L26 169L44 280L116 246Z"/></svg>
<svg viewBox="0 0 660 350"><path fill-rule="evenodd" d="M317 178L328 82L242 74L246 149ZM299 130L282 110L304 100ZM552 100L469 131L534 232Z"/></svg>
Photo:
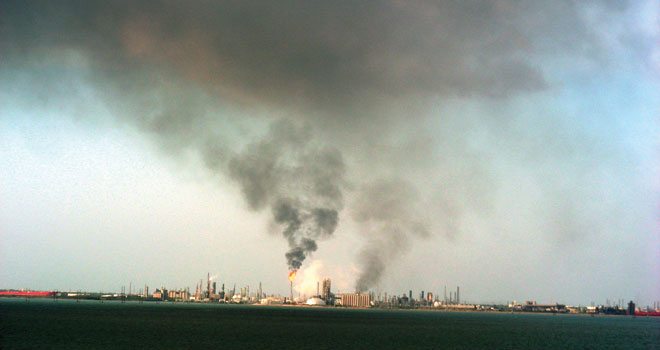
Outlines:
<svg viewBox="0 0 660 350"><path fill-rule="evenodd" d="M0 288L660 300L656 1L4 1Z"/></svg>

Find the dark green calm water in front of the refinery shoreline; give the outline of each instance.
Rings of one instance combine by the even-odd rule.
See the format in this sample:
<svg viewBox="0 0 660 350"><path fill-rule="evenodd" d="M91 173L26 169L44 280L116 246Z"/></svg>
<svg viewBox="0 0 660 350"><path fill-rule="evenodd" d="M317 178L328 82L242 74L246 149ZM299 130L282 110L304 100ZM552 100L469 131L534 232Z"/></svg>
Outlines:
<svg viewBox="0 0 660 350"><path fill-rule="evenodd" d="M660 349L660 319L0 299L3 349Z"/></svg>

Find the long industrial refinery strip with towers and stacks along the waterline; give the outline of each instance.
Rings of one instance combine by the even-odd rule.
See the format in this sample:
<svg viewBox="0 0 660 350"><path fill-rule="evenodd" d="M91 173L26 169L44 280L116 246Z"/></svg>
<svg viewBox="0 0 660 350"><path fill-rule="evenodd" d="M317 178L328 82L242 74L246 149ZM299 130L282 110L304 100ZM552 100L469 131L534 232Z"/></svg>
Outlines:
<svg viewBox="0 0 660 350"><path fill-rule="evenodd" d="M99 300L120 302L187 302L187 303L224 303L224 304L251 304L251 305L286 305L286 306L313 306L313 307L346 307L346 308L383 308L383 309L427 309L444 311L503 311L503 312L547 312L547 313L573 313L573 314L606 314L606 315L634 315L634 316L660 316L660 302L653 306L638 307L632 300L625 303L623 299L611 303L589 306L570 306L552 303L539 304L536 301L518 303L516 301L505 304L474 304L461 301L460 287L447 291L444 288L443 296L432 292L420 291L413 296L413 291L401 295L374 292L333 293L332 281L325 278L317 282L316 294L312 296L294 296L293 282L295 272L289 274L290 294L268 294L262 289L261 283L256 290L250 291L250 286L236 289L236 284L226 288L222 283L219 288L207 274L206 281L201 279L194 291L190 288L168 289L165 287L150 290L148 285L133 289L129 284L128 290L121 287L120 292L83 292L83 291L33 291L0 289L0 297L5 298L52 298L74 300Z"/></svg>

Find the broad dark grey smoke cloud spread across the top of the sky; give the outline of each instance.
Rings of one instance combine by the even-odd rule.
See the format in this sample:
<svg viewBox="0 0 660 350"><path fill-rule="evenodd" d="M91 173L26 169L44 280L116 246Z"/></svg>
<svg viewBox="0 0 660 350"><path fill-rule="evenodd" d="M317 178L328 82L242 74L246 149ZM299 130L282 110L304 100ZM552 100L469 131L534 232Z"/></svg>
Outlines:
<svg viewBox="0 0 660 350"><path fill-rule="evenodd" d="M36 1L5 8L3 51L70 47L109 74L157 67L242 103L351 117L360 113L345 107L380 97L544 89L530 58L557 46L570 51L590 36L571 1Z"/></svg>

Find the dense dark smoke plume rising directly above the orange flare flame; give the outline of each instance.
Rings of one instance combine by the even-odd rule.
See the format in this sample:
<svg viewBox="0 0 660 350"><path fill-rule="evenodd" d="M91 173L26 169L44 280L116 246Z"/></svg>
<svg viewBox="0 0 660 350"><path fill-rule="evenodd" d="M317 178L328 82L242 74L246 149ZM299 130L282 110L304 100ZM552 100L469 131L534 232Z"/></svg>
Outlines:
<svg viewBox="0 0 660 350"><path fill-rule="evenodd" d="M343 207L341 154L311 142L308 129L290 122L273 124L268 135L229 161L249 206L269 206L289 243L286 259L299 269L316 240L333 234Z"/></svg>

